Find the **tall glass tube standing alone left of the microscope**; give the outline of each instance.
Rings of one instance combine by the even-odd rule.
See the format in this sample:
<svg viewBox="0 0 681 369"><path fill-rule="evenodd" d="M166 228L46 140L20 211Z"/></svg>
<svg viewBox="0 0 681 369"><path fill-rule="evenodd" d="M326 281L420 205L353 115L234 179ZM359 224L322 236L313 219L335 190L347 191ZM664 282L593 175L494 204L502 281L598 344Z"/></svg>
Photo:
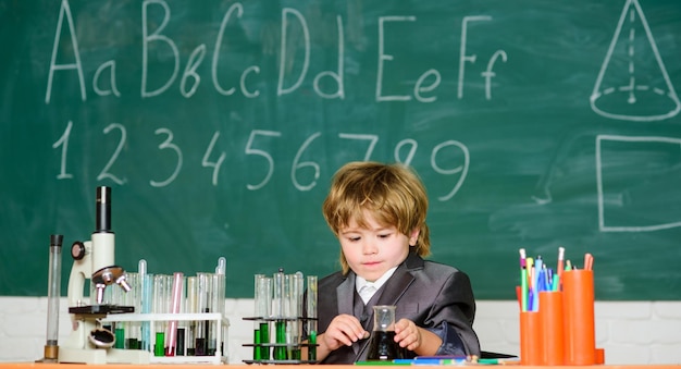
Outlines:
<svg viewBox="0 0 681 369"><path fill-rule="evenodd" d="M59 298L61 297L62 275L62 242L61 234L50 235L50 259L47 291L47 342L44 357L46 361L57 361L59 358Z"/></svg>

